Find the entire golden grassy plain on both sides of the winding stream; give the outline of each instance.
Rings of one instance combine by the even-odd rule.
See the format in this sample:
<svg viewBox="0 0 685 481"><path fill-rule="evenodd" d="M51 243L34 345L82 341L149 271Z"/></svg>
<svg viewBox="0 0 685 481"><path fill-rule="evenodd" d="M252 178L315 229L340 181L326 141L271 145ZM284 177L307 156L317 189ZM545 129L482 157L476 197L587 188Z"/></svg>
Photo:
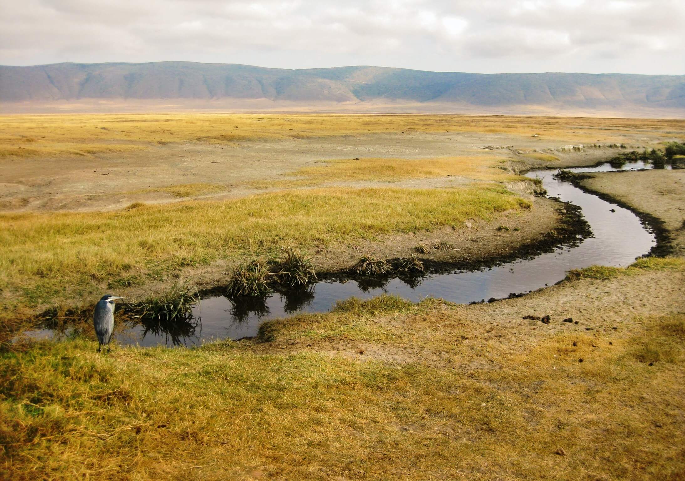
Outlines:
<svg viewBox="0 0 685 481"><path fill-rule="evenodd" d="M685 476L682 170L582 180L660 219L669 256L573 271L524 297L349 299L196 349L96 354L83 319L62 341L16 336L48 308L90 314L104 291L222 285L284 247L327 272L439 243L450 247L421 258L509 256L555 238L566 214L521 173L663 149L685 139L685 121L117 114L0 126L3 476Z"/></svg>

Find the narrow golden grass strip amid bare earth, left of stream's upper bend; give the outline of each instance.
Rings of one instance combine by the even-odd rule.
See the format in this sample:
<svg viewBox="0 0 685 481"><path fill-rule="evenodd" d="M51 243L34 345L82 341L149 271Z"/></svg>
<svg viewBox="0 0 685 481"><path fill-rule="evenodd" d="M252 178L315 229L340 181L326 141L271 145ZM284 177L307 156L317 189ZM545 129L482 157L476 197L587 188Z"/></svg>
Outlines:
<svg viewBox="0 0 685 481"><path fill-rule="evenodd" d="M297 177L295 179L256 181L250 185L258 188L281 188L321 185L328 182L397 182L446 176L499 182L522 180L522 177L499 169L502 165L503 160L493 156L327 160L314 167L303 167L289 175Z"/></svg>

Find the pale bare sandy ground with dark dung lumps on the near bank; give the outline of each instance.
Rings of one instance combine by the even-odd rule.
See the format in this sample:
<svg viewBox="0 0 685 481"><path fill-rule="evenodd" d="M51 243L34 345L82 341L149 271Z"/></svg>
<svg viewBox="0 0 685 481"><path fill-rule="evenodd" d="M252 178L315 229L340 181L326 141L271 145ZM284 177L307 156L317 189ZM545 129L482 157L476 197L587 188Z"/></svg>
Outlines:
<svg viewBox="0 0 685 481"><path fill-rule="evenodd" d="M645 271L611 280L574 280L544 288L525 297L491 304L444 304L425 314L390 314L375 317L410 343L351 341L345 336L312 338L302 332L277 336L255 349L273 351L323 351L331 355L390 362L425 362L460 369L496 369L489 351L526 351L556 334L590 334L610 349L609 341L630 338L643 330L636 318L685 312L685 271ZM549 315L549 325L523 319ZM564 323L571 318L575 323ZM435 341L438 339L439 341ZM445 342L447 341L447 342ZM599 342L598 342L599 343ZM363 353L360 353L363 349ZM459 365L453 356L459 354Z"/></svg>

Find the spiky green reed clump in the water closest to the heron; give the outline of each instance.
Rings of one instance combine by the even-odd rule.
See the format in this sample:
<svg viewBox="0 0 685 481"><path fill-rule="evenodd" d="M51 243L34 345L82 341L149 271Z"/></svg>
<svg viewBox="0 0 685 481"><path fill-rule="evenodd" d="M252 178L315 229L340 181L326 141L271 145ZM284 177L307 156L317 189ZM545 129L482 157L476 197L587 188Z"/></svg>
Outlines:
<svg viewBox="0 0 685 481"><path fill-rule="evenodd" d="M199 302L197 288L176 283L164 294L125 304L124 310L134 319L169 322L192 317L192 308Z"/></svg>

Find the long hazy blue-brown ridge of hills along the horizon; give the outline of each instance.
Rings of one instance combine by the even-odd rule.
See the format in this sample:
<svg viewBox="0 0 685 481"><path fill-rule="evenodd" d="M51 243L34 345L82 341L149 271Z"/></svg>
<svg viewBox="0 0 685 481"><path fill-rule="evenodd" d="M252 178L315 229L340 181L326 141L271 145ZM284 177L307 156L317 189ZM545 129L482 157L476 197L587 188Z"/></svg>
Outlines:
<svg viewBox="0 0 685 481"><path fill-rule="evenodd" d="M245 110L685 116L685 75L427 72L373 66L266 69L152 62L0 66L0 103Z"/></svg>

